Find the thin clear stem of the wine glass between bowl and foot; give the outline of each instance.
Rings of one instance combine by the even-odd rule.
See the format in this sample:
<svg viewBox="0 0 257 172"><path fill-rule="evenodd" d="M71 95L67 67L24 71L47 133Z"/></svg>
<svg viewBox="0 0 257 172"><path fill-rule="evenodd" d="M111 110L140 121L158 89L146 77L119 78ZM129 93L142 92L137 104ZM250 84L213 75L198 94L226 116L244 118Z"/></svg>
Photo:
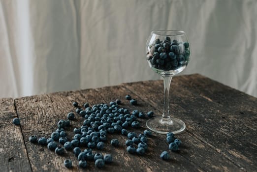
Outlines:
<svg viewBox="0 0 257 172"><path fill-rule="evenodd" d="M164 108L163 108L163 114L162 119L169 119L169 87L172 80L171 76L162 76L163 78L163 84L164 84Z"/></svg>

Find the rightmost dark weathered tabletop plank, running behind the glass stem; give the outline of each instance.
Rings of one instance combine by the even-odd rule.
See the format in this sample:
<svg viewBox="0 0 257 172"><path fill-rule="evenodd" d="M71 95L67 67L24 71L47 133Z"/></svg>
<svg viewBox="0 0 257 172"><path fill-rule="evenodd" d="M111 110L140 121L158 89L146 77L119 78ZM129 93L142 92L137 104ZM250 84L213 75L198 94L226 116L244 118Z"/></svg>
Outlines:
<svg viewBox="0 0 257 172"><path fill-rule="evenodd" d="M183 78L187 77L188 76L183 76ZM196 80L195 78L197 78L197 76L193 79L187 78L184 82L181 81L181 78L181 76L173 78L170 95L171 113L175 117L183 119L186 122L188 131L195 137L224 155L238 167L246 171L256 170L256 136L252 135L256 132L256 125L253 124L249 127L240 123L245 121L245 123L249 124L249 121L246 122L249 118L253 120L253 123L256 123L256 115L254 114L257 112L257 106L253 106L256 103L256 99L239 91L233 91L233 94L240 94L241 98L243 97L249 100L247 109L244 108L244 110L241 109L241 111L249 112L250 110L248 115L240 113L234 114L235 107L232 105L235 101L232 100L232 98L231 103L229 103L229 100L226 100L225 104L223 104L222 101L224 97L226 97L226 94L229 94L228 97L233 97L230 95L231 91L227 89L226 86L210 80L208 85L205 84L200 87L199 83L204 82L201 79ZM192 85L194 89L191 88ZM125 84L125 86L132 92L143 97L145 101L158 107L159 110L162 110L162 81L138 82ZM223 90L223 94L215 94L215 96L220 95L220 99L216 99L220 103L210 101L208 97L211 97L211 93L209 93L208 96L203 95L205 97L201 95L203 90L208 92L206 90L209 90L210 86L213 86L211 90L214 91L216 89ZM236 96L238 95L234 95L234 97ZM247 97L250 98L247 99ZM244 100L237 99L237 101L240 102ZM243 103L241 104L243 105ZM241 106L241 108L242 107L243 106ZM240 109L237 109L237 111L239 110ZM242 117L243 120L239 122L238 119L240 117ZM244 126L244 128L242 126Z"/></svg>

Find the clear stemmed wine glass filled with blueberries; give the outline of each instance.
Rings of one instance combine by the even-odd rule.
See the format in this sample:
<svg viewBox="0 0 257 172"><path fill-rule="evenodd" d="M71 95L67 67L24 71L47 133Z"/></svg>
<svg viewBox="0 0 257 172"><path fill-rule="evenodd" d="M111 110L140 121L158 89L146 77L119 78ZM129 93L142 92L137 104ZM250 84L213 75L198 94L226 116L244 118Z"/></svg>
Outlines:
<svg viewBox="0 0 257 172"><path fill-rule="evenodd" d="M163 114L146 122L146 126L157 133L179 134L186 128L185 122L169 115L169 87L172 77L182 72L190 59L190 46L184 31L152 31L146 43L146 59L149 66L163 78Z"/></svg>

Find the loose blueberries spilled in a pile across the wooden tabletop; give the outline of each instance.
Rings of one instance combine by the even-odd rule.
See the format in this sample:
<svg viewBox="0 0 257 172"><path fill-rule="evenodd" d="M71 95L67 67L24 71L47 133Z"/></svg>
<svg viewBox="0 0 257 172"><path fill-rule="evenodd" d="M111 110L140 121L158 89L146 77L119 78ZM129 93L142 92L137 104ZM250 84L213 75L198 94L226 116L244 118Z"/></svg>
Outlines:
<svg viewBox="0 0 257 172"><path fill-rule="evenodd" d="M125 97L130 100L131 97L127 95ZM29 141L31 143L38 143L40 145L47 145L49 150L55 151L58 155L63 155L65 150L73 150L74 156L79 161L80 168L87 167L87 161L95 161L97 168L102 168L106 163L112 162L112 156L110 154L102 155L101 153L93 153L92 149L97 148L102 150L107 142L107 134L120 133L128 137L126 141L128 153L137 153L143 155L148 148L147 137L152 135L150 130L145 130L144 133L138 136L134 132L129 132L128 127L138 128L140 123L137 120L139 118L153 117L152 111L144 114L138 110L129 112L128 109L120 108L121 101L117 99L115 102L108 104L96 104L92 107L89 103L83 105L84 108L78 106L77 102L73 102L73 106L76 108L76 114L85 118L81 127L73 129L74 135L72 140L67 139L67 133L65 130L70 126L70 121L75 119L75 114L70 112L67 114L67 119L61 119L57 126L58 128L51 134L50 138L37 138L36 136L30 136ZM59 143L58 143L59 142ZM119 146L118 139L112 139L111 145ZM80 146L87 147L84 151ZM137 148L136 148L137 147ZM72 168L71 160L64 161L66 168Z"/></svg>

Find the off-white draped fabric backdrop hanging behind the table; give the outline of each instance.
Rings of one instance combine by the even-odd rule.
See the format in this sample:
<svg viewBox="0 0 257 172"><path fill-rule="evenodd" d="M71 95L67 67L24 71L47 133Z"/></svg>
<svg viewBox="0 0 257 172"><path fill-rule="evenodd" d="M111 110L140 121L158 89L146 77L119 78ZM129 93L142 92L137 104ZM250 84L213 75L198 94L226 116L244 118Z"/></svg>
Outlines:
<svg viewBox="0 0 257 172"><path fill-rule="evenodd" d="M156 29L188 33L182 74L257 96L257 0L0 0L0 97L160 79Z"/></svg>

